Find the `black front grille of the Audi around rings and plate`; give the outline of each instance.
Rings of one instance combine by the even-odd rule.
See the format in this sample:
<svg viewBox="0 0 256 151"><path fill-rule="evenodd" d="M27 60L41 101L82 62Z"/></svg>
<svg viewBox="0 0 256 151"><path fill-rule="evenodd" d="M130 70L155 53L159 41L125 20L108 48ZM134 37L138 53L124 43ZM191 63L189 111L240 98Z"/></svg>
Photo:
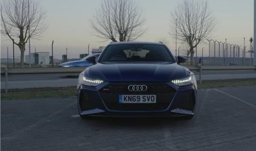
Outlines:
<svg viewBox="0 0 256 151"><path fill-rule="evenodd" d="M130 85L145 85L147 90L143 91L130 91L128 87ZM111 110L121 111L152 111L166 109L172 101L176 90L167 84L108 84L100 89L100 95L108 107ZM157 103L144 103L144 104L125 104L119 103L119 95L156 95Z"/></svg>

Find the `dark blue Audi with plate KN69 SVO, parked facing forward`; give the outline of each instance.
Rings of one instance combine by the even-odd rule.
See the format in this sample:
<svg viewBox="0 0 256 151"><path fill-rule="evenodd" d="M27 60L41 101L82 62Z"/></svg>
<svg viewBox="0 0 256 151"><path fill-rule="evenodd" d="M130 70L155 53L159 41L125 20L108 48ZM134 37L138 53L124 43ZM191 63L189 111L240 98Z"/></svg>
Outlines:
<svg viewBox="0 0 256 151"><path fill-rule="evenodd" d="M157 42L114 42L79 75L81 118L172 117L195 115L195 75Z"/></svg>

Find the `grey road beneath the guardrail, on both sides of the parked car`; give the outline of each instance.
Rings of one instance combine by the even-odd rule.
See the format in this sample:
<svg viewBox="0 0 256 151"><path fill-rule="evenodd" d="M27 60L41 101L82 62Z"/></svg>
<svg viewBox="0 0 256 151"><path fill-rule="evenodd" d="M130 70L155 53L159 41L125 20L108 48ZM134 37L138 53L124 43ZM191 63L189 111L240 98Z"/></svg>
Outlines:
<svg viewBox="0 0 256 151"><path fill-rule="evenodd" d="M193 71L199 79L198 71ZM19 74L8 76L8 88L35 88L35 87L70 87L76 86L79 73L54 74ZM256 78L255 70L204 70L203 80ZM1 75L1 88L5 87L5 77Z"/></svg>

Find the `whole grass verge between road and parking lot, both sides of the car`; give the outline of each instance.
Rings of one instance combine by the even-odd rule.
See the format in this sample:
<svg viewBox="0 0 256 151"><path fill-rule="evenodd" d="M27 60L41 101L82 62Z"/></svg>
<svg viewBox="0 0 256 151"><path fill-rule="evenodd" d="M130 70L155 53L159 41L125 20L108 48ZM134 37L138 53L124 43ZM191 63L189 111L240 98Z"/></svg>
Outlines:
<svg viewBox="0 0 256 151"><path fill-rule="evenodd" d="M234 87L256 85L256 78L203 81L198 89L213 87ZM76 96L76 87L47 87L31 89L9 89L8 93L1 89L1 100L35 99L35 98L68 98Z"/></svg>

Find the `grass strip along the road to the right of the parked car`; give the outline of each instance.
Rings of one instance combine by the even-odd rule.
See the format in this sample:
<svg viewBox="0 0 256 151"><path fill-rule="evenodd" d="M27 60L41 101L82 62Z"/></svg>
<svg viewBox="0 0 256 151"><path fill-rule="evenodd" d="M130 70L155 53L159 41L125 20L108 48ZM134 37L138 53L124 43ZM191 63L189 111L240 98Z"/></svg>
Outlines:
<svg viewBox="0 0 256 151"><path fill-rule="evenodd" d="M256 85L256 78L202 81L202 84L198 83L198 89L213 88L213 87L251 86L251 85Z"/></svg>

